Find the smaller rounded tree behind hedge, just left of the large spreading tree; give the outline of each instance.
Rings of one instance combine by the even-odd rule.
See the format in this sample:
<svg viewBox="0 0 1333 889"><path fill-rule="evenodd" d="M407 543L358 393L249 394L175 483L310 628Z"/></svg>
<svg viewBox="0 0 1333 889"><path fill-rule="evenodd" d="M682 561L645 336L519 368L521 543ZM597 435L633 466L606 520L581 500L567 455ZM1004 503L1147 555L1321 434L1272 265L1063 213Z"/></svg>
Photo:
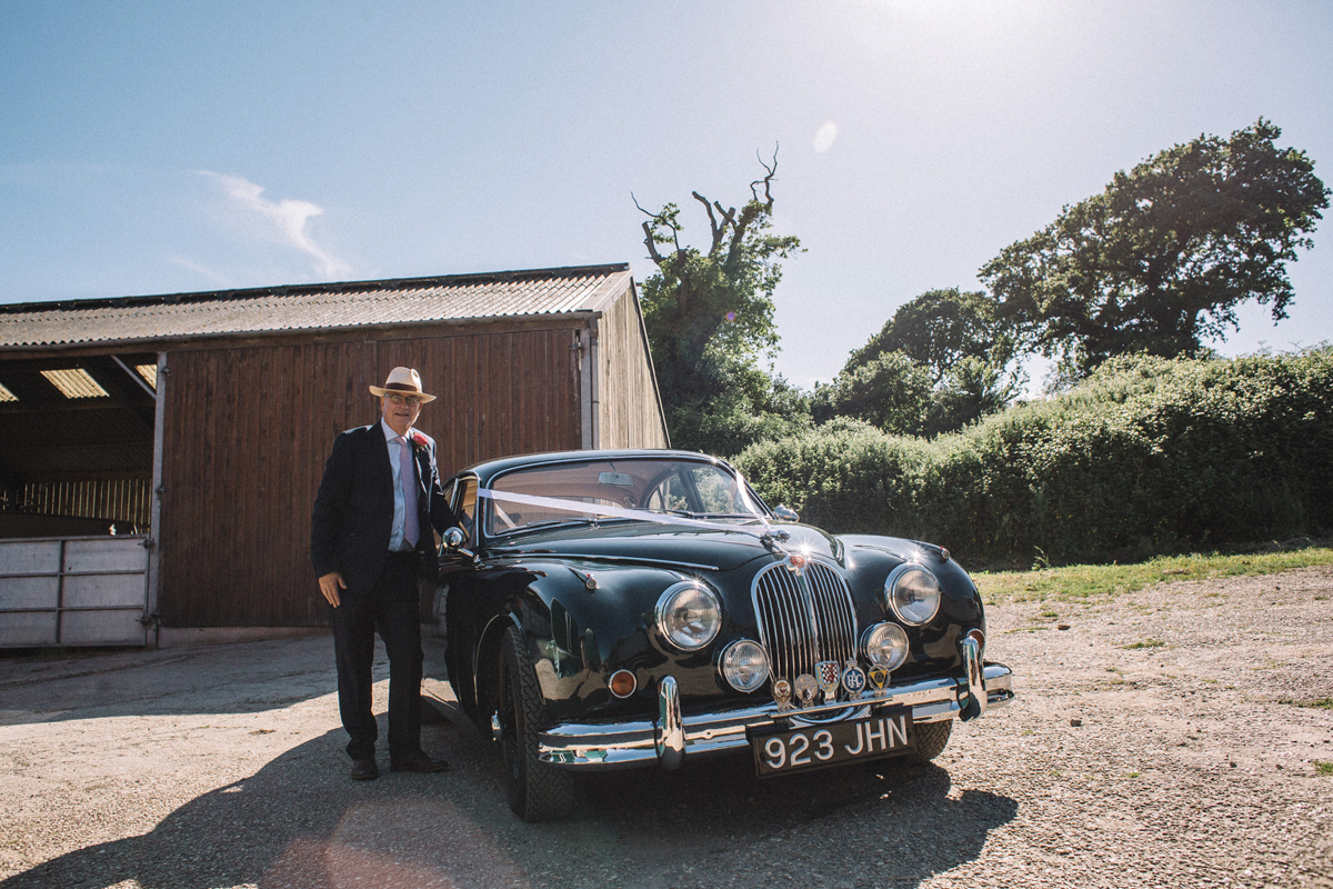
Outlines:
<svg viewBox="0 0 1333 889"><path fill-rule="evenodd" d="M994 308L994 300L980 291L926 291L900 305L884 329L852 353L845 369L869 364L885 352L901 352L929 368L934 385L964 359L1002 368L1013 357L1014 344L997 327Z"/></svg>

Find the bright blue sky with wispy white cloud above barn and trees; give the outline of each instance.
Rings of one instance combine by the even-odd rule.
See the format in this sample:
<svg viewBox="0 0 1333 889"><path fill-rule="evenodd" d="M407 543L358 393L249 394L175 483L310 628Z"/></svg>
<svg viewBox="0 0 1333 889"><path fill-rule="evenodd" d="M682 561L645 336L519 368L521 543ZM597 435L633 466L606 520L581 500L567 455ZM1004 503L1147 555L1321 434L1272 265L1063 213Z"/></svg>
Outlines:
<svg viewBox="0 0 1333 889"><path fill-rule="evenodd" d="M0 0L0 303L629 261L780 144L776 368L829 380L1118 169L1268 117L1333 183L1333 4ZM1333 221L1292 317L1333 340Z"/></svg>

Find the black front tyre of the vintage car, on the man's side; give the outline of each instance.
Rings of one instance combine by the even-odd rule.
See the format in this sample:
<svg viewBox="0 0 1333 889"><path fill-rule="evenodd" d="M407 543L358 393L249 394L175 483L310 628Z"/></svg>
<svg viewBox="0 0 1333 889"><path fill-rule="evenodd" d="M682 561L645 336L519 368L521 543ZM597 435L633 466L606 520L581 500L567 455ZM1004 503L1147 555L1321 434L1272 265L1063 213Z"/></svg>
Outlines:
<svg viewBox="0 0 1333 889"><path fill-rule="evenodd" d="M573 776L537 758L537 730L545 706L537 673L524 656L517 629L500 646L500 746L504 749L509 808L524 821L555 821L569 814Z"/></svg>

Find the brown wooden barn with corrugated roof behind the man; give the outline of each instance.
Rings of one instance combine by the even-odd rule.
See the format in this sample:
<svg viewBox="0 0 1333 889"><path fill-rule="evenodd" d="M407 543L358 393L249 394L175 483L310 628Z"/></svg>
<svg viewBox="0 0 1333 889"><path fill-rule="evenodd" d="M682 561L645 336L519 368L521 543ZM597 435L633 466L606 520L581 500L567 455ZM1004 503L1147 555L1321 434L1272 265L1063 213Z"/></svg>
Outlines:
<svg viewBox="0 0 1333 889"><path fill-rule="evenodd" d="M0 305L0 646L325 624L315 492L396 365L445 476L669 445L624 264Z"/></svg>

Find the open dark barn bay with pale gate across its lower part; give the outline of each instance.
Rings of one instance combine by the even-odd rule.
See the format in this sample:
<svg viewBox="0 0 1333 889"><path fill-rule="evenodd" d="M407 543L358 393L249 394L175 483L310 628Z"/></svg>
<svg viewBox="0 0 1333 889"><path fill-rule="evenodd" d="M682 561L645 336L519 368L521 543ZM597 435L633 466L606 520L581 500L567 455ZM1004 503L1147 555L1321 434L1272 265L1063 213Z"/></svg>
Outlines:
<svg viewBox="0 0 1333 889"><path fill-rule="evenodd" d="M147 644L157 365L0 361L0 646Z"/></svg>

